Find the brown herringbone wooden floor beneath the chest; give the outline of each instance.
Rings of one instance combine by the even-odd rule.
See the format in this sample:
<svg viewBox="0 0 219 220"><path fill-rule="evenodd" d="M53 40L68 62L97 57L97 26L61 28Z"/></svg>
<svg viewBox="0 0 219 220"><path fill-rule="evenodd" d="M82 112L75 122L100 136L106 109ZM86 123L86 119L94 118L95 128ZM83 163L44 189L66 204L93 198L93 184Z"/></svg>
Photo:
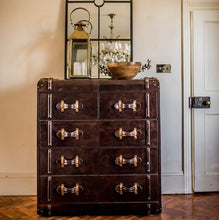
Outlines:
<svg viewBox="0 0 219 220"><path fill-rule="evenodd" d="M0 196L0 219L71 219L71 220L157 220L195 219L219 220L219 193L162 196L163 210L159 216L84 216L40 217L36 214L35 196Z"/></svg>

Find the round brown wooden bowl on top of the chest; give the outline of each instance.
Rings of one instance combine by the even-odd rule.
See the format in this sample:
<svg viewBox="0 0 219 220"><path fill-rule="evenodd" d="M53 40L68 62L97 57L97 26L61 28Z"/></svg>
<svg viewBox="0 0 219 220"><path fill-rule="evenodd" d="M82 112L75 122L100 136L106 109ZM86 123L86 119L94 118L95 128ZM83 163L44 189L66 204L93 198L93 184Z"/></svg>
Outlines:
<svg viewBox="0 0 219 220"><path fill-rule="evenodd" d="M141 69L141 62L107 63L112 79L132 79Z"/></svg>

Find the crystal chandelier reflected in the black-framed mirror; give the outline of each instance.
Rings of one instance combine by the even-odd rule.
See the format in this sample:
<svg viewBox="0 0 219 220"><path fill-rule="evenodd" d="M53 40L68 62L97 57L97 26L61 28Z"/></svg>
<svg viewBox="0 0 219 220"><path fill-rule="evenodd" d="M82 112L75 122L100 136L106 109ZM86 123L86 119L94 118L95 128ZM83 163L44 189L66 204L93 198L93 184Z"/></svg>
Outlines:
<svg viewBox="0 0 219 220"><path fill-rule="evenodd" d="M109 25L110 28L110 37L107 38L106 36L103 36L104 39L106 39L105 42L100 43L100 49L99 49L99 65L104 65L108 62L129 62L131 58L131 45L130 43L123 42L117 40L120 35L117 37L114 37L113 29L113 19L116 16L116 14L108 14L108 16L111 19L111 24ZM97 53L93 53L93 65L98 64L98 56Z"/></svg>

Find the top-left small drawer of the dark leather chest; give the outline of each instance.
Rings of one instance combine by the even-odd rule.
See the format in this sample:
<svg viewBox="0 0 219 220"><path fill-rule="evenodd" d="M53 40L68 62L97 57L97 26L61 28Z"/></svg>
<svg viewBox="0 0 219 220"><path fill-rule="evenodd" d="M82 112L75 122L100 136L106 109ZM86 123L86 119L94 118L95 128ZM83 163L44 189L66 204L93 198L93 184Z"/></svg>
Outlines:
<svg viewBox="0 0 219 220"><path fill-rule="evenodd" d="M40 93L41 119L96 119L96 93Z"/></svg>

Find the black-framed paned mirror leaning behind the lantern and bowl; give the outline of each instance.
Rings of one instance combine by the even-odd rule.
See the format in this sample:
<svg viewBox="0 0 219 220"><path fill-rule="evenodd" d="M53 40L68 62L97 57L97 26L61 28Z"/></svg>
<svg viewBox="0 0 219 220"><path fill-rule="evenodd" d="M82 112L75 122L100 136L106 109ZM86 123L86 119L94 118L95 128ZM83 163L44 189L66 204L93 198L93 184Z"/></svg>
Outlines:
<svg viewBox="0 0 219 220"><path fill-rule="evenodd" d="M75 10L77 8L83 10ZM100 65L106 66L107 62L132 61L132 0L66 0L65 79L72 78L69 69L83 72L79 71L82 67L77 67L75 60L75 67L72 66L68 46L75 24L83 21L89 21L83 24L83 29L89 34L90 57L83 59L89 59L90 64L89 70L86 70L87 67L83 69L89 71L90 78L108 78L99 68ZM71 58L87 56L82 48L77 53Z"/></svg>

